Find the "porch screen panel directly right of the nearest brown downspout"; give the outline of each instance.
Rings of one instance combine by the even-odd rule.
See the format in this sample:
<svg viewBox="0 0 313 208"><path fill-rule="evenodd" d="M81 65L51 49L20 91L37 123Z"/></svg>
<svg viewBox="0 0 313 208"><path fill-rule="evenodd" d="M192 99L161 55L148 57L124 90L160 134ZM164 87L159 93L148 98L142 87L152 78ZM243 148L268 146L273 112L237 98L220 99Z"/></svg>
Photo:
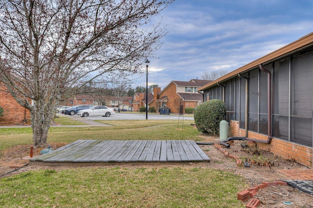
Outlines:
<svg viewBox="0 0 313 208"><path fill-rule="evenodd" d="M272 135L289 141L289 65L285 58L274 63Z"/></svg>

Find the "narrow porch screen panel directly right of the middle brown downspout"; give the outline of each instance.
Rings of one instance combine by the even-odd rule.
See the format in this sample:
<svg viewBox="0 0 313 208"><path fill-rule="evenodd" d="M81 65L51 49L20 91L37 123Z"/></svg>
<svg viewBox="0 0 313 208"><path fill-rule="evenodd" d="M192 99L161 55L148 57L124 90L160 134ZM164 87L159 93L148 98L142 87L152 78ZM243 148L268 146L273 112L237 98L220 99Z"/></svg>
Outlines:
<svg viewBox="0 0 313 208"><path fill-rule="evenodd" d="M249 72L249 112L248 129L258 132L258 101L259 101L259 70L254 69Z"/></svg>

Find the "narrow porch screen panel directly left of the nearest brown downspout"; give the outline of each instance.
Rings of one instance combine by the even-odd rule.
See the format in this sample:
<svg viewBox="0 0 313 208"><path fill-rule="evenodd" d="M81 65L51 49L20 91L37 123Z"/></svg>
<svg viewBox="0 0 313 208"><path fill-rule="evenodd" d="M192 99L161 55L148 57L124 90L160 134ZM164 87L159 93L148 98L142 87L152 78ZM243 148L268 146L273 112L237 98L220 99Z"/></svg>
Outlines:
<svg viewBox="0 0 313 208"><path fill-rule="evenodd" d="M272 64L264 66L272 71ZM268 74L260 70L259 89L259 133L268 134Z"/></svg>

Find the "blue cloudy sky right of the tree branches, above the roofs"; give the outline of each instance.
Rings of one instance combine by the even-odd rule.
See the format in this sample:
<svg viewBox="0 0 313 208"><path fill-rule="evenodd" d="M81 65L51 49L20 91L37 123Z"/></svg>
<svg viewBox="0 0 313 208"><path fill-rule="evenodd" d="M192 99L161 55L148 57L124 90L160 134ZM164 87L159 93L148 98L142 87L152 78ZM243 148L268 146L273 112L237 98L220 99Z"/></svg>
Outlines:
<svg viewBox="0 0 313 208"><path fill-rule="evenodd" d="M233 71L313 32L312 11L313 0L176 0L153 20L168 34L149 58L148 85Z"/></svg>

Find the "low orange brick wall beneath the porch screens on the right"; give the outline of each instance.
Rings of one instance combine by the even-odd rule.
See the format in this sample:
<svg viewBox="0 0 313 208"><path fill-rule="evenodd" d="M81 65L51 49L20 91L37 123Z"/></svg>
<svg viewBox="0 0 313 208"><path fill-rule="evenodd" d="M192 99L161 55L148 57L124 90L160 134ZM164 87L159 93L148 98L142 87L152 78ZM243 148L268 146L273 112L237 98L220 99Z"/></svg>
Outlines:
<svg viewBox="0 0 313 208"><path fill-rule="evenodd" d="M239 128L238 121L230 121L229 136L245 137L246 131ZM268 136L248 131L248 138L268 140ZM268 150L271 153L284 159L290 159L304 166L313 168L313 148L297 145L291 142L273 138L270 144L257 143L260 149Z"/></svg>

